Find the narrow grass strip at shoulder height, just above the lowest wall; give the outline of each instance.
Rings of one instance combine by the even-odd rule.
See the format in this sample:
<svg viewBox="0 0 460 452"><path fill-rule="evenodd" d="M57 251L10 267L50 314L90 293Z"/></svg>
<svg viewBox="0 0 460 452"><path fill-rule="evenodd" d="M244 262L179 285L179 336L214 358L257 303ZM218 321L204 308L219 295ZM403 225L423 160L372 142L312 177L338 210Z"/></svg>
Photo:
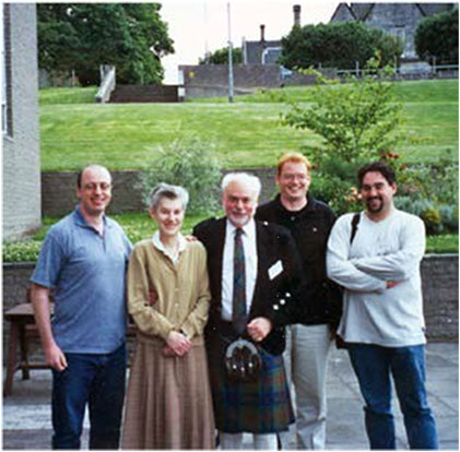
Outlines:
<svg viewBox="0 0 460 452"><path fill-rule="evenodd" d="M155 223L146 212L125 213L111 215L123 227L133 243L152 237L156 230ZM186 216L182 234L191 234L196 224L207 218L202 216ZM31 239L16 242L3 242L3 262L35 262L42 247L42 241L49 227L60 218L44 218L44 227ZM458 253L459 236L456 234L444 236L428 236L426 240L426 253Z"/></svg>

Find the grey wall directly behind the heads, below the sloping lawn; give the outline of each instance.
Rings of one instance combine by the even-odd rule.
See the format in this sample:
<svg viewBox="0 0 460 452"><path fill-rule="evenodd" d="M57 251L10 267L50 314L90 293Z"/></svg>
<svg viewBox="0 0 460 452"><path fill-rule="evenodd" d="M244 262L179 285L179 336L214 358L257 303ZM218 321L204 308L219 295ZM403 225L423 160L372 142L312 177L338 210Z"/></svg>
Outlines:
<svg viewBox="0 0 460 452"><path fill-rule="evenodd" d="M238 169L245 170L245 169ZM274 168L248 168L262 182L261 201L272 198L274 186ZM225 169L223 174L228 173ZM114 195L108 213L139 212L144 209L142 194L138 187L139 171L111 171ZM42 174L42 211L43 215L61 216L73 210L78 203L75 197L76 173Z"/></svg>

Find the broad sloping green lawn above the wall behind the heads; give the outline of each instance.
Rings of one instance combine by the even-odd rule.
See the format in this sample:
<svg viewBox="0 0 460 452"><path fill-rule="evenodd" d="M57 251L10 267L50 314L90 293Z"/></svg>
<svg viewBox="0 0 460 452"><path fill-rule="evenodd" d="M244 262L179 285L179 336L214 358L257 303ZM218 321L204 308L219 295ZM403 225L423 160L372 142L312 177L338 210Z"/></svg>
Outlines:
<svg viewBox="0 0 460 452"><path fill-rule="evenodd" d="M433 160L446 148L458 158L458 81L397 82L394 88L404 105L404 138L394 151L409 162ZM145 168L158 145L188 133L213 141L224 165L234 168L272 166L286 151L320 143L312 132L280 122L284 100L310 100L308 86L239 96L233 105L225 98L98 105L91 103L95 88L61 90L40 92L43 170L74 170L90 162Z"/></svg>

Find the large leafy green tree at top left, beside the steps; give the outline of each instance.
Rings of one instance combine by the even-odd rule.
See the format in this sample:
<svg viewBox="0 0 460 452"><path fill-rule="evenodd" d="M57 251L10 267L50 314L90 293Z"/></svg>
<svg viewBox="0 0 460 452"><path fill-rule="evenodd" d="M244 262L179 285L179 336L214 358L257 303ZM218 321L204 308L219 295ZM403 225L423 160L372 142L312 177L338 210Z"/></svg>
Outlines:
<svg viewBox="0 0 460 452"><path fill-rule="evenodd" d="M75 70L97 84L99 66L114 64L121 83L160 83L161 58L174 52L158 3L38 3L39 67Z"/></svg>

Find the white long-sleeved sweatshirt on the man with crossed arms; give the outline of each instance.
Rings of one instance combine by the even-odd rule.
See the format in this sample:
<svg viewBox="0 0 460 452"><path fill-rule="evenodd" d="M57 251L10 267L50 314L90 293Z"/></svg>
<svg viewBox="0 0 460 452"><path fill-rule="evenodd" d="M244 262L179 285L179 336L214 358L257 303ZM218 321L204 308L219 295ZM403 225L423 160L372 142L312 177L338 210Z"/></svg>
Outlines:
<svg viewBox="0 0 460 452"><path fill-rule="evenodd" d="M401 347L424 344L420 263L425 226L393 210L380 221L361 213L350 246L353 214L341 216L328 241L328 276L345 287L339 334L345 342ZM396 287L387 289L387 282Z"/></svg>

